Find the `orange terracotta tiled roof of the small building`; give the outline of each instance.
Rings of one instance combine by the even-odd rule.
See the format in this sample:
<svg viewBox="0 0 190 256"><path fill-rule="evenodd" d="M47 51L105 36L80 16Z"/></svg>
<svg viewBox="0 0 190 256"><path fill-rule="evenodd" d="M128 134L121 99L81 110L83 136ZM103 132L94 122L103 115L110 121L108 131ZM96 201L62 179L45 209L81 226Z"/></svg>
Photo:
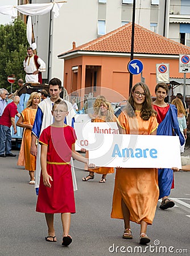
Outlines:
<svg viewBox="0 0 190 256"><path fill-rule="evenodd" d="M75 51L130 53L131 29L132 23L130 22L100 38L82 44L68 52L61 53L59 56L67 55ZM134 53L158 55L190 54L190 47L177 43L174 40L164 38L164 36L160 36L135 24Z"/></svg>

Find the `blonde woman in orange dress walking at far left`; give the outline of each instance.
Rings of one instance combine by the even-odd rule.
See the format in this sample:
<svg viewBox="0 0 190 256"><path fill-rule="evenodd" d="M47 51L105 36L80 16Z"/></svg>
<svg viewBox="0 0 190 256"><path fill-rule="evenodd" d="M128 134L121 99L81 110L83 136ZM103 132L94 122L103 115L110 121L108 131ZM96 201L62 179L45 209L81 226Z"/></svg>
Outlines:
<svg viewBox="0 0 190 256"><path fill-rule="evenodd" d="M34 125L36 111L40 101L41 97L38 92L31 93L26 109L23 110L16 123L17 126L24 128L17 164L18 166L25 166L25 169L29 171L29 184L35 184L34 171L36 170L36 157L30 154L31 130Z"/></svg>

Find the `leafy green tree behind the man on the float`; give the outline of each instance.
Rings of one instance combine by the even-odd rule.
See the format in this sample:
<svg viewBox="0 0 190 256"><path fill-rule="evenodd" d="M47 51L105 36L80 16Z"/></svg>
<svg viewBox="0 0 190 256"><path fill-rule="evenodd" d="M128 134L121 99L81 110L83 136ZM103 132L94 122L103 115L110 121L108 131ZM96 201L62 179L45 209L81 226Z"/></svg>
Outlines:
<svg viewBox="0 0 190 256"><path fill-rule="evenodd" d="M13 23L0 26L0 88L10 90L7 76L14 74L24 80L23 60L28 47L26 24L16 18ZM13 85L13 90L17 83Z"/></svg>

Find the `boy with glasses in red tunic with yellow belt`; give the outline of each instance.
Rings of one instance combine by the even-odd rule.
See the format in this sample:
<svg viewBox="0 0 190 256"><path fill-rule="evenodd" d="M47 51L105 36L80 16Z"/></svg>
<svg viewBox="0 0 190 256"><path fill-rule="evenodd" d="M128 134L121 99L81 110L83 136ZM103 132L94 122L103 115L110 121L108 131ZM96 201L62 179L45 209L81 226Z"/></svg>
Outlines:
<svg viewBox="0 0 190 256"><path fill-rule="evenodd" d="M43 130L39 138L42 144L40 187L36 212L46 216L48 236L46 241L56 242L53 226L54 213L61 213L63 225L63 246L72 242L69 236L71 213L75 213L75 198L71 174L71 156L80 162L88 164L88 159L75 151L76 134L71 126L64 125L68 114L67 104L57 100L53 105L54 122ZM93 164L88 164L94 167Z"/></svg>

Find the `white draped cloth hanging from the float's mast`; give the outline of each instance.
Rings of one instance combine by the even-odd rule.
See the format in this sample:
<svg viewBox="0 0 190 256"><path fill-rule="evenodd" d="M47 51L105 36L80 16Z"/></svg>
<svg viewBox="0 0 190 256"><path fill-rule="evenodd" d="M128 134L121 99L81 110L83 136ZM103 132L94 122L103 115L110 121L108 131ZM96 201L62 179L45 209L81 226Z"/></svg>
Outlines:
<svg viewBox="0 0 190 256"><path fill-rule="evenodd" d="M64 2L51 2L51 3L27 3L27 5L5 5L0 6L0 13L4 15L9 15L12 18L17 17L17 11L19 13L28 15L28 21L27 21L27 40L30 44L30 47L32 49L36 49L36 43L32 44L32 17L35 15L43 15L47 14L49 11L52 10L52 13L54 14L54 17L59 17L59 10Z"/></svg>

